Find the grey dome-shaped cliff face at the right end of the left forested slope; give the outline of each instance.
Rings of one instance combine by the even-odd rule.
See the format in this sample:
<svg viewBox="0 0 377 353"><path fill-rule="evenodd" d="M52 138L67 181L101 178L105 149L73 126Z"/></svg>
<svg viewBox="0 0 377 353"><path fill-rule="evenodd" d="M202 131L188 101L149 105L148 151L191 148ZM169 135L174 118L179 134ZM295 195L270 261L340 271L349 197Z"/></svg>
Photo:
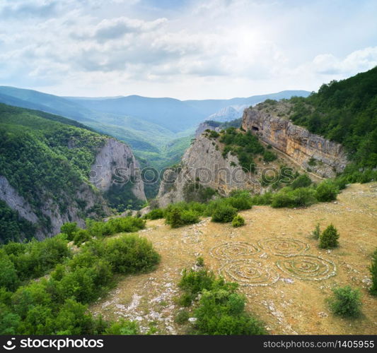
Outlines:
<svg viewBox="0 0 377 353"><path fill-rule="evenodd" d="M122 184L130 180L134 196L146 200L139 163L135 160L132 150L124 143L109 138L98 152L91 169L90 181L100 191L108 191L112 184Z"/></svg>

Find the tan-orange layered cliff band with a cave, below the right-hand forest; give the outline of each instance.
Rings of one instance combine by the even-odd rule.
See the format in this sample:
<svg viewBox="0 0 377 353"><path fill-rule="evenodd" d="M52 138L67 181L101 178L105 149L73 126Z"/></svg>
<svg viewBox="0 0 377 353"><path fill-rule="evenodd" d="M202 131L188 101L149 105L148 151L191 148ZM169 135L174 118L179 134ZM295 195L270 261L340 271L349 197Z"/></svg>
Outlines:
<svg viewBox="0 0 377 353"><path fill-rule="evenodd" d="M245 109L242 127L320 177L335 177L347 164L342 145L296 126L270 109L258 109L258 106Z"/></svg>

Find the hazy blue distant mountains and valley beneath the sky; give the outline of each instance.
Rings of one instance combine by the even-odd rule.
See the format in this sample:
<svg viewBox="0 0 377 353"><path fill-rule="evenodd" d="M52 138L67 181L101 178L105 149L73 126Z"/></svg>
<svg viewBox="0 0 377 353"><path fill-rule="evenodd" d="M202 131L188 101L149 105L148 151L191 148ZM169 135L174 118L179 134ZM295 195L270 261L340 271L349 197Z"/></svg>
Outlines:
<svg viewBox="0 0 377 353"><path fill-rule="evenodd" d="M233 115L242 115L240 107L267 98L279 100L309 94L304 90L286 90L230 100L176 100L139 95L95 98L59 97L36 90L0 86L0 102L80 121L128 143L142 163L158 168L180 159L197 125L209 119L211 114L218 116L220 121L228 121ZM215 116L211 119L214 120Z"/></svg>

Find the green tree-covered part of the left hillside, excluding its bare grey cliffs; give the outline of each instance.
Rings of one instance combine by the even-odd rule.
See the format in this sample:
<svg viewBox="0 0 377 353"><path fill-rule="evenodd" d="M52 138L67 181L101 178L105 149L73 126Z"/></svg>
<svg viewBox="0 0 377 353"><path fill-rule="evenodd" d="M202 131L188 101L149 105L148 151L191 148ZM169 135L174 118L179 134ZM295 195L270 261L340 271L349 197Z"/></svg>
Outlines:
<svg viewBox="0 0 377 353"><path fill-rule="evenodd" d="M101 215L103 205L88 209L78 191L83 190L96 151L106 139L107 136L61 116L0 104L3 188L10 189L9 184L15 189L38 219L32 225L1 201L0 241L30 238L36 226L50 229L50 217L41 211L46 200L50 200L50 213L66 213L74 202L83 217L89 213ZM100 197L95 198L95 203L100 201Z"/></svg>

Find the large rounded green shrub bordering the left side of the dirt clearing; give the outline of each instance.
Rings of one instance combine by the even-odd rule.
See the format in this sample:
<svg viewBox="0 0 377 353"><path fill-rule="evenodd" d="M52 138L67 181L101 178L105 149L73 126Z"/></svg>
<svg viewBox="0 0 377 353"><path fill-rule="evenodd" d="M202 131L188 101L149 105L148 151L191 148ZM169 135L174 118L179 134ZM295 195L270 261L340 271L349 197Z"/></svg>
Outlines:
<svg viewBox="0 0 377 353"><path fill-rule="evenodd" d="M104 258L115 272L128 274L153 270L160 256L150 241L136 234L128 234L105 241Z"/></svg>

